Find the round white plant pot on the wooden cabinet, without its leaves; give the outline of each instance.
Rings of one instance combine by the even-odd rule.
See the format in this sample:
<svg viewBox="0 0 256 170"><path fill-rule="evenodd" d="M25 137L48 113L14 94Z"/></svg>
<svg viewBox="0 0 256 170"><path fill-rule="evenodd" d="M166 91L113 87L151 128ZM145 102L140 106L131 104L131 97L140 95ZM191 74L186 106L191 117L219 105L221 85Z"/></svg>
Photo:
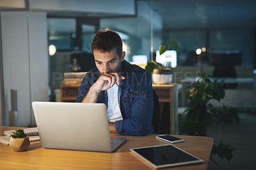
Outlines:
<svg viewBox="0 0 256 170"><path fill-rule="evenodd" d="M152 80L154 84L171 84L172 83L172 70L170 69L154 69L152 73Z"/></svg>

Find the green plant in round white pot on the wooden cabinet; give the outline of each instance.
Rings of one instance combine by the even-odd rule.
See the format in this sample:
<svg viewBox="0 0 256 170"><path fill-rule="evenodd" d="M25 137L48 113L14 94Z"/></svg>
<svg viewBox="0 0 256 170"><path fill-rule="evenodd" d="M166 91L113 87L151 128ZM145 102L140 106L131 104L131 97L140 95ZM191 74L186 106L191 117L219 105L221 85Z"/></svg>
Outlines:
<svg viewBox="0 0 256 170"><path fill-rule="evenodd" d="M172 40L170 41L170 45L168 47L163 45L159 47L159 54L163 54L166 50L170 49L171 46L180 52L178 43L175 40ZM167 68L154 60L148 61L145 68L148 70L148 72L152 73L152 80L155 84L170 84L172 82L171 68Z"/></svg>

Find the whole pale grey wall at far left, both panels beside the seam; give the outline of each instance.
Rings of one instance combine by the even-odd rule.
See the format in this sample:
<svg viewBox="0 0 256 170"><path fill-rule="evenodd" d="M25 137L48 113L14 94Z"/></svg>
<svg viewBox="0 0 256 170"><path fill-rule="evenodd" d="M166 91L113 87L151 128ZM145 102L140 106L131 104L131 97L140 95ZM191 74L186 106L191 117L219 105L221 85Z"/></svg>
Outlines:
<svg viewBox="0 0 256 170"><path fill-rule="evenodd" d="M48 100L46 13L1 12L5 125L10 89L17 89L19 125L35 124L31 102Z"/></svg>

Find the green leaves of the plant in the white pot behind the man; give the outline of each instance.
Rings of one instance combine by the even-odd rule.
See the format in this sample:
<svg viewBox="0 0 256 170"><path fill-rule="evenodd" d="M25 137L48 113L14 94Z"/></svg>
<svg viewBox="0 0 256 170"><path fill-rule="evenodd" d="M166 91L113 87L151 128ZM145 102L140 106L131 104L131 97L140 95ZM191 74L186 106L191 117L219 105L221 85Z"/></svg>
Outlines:
<svg viewBox="0 0 256 170"><path fill-rule="evenodd" d="M168 47L161 45L159 47L159 54L163 54L166 50L170 49L170 47L173 47L175 50L180 52L180 47L178 43L175 40L170 41L170 44ZM159 63L156 63L156 61L151 60L148 61L147 66L145 66L146 70L148 72L152 73L154 69L164 70L166 67L164 65L161 65Z"/></svg>

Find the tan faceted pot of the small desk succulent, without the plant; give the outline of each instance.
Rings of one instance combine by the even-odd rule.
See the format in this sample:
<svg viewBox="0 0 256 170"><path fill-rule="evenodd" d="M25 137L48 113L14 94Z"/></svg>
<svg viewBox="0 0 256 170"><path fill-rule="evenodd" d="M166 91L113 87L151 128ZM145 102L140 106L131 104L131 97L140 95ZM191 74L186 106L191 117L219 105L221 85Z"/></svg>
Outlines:
<svg viewBox="0 0 256 170"><path fill-rule="evenodd" d="M30 145L29 137L25 138L13 138L10 137L10 148L12 148L13 151L25 151L28 149L28 146Z"/></svg>

